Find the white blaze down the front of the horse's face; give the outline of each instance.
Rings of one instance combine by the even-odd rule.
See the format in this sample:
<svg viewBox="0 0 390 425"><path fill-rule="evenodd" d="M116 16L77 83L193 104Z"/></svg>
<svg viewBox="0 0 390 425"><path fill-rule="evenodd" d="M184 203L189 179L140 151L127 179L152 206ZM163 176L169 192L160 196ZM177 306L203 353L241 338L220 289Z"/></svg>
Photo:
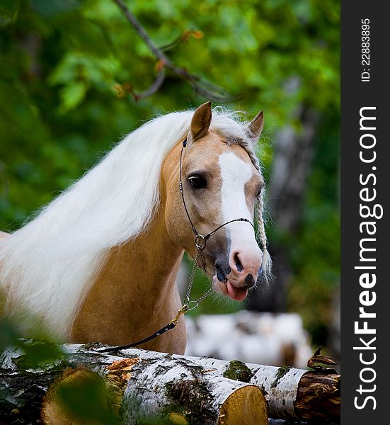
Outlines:
<svg viewBox="0 0 390 425"><path fill-rule="evenodd" d="M219 156L219 167L222 177L222 215L223 222L236 218L247 218L253 222L253 213L248 210L245 198L245 184L253 175L251 164L244 162L233 152L226 152ZM235 246L253 244L258 249L253 227L246 222L233 222L227 225L231 238L231 251Z"/></svg>

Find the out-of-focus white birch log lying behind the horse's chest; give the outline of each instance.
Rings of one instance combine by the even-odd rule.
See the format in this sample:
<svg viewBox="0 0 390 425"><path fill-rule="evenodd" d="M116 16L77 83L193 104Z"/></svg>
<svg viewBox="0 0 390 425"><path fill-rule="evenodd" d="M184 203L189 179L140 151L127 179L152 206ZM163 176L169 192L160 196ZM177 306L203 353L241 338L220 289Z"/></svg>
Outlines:
<svg viewBox="0 0 390 425"><path fill-rule="evenodd" d="M302 317L294 313L258 313L185 317L188 356L207 356L263 365L305 368L311 356Z"/></svg>

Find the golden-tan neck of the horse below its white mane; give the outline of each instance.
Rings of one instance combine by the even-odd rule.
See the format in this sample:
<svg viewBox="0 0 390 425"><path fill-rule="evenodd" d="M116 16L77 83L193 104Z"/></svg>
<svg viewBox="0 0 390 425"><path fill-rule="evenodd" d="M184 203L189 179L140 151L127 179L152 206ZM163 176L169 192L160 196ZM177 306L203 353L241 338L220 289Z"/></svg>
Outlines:
<svg viewBox="0 0 390 425"><path fill-rule="evenodd" d="M171 320L180 308L175 281L183 249L166 230L164 188L160 193L161 202L147 229L108 253L76 315L71 341L125 344L129 337L137 341ZM180 344L185 346L185 338ZM183 351L169 345L159 348Z"/></svg>

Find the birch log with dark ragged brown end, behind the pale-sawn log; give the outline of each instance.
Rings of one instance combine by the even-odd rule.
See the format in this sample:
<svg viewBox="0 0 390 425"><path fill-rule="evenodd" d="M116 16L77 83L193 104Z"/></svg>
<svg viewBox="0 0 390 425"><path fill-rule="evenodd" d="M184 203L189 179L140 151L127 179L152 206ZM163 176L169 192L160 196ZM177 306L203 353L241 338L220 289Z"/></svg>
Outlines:
<svg viewBox="0 0 390 425"><path fill-rule="evenodd" d="M131 348L122 353L132 357L139 350ZM164 354L142 351L142 357L145 356L160 358ZM258 385L265 392L271 418L329 423L340 421L340 375L314 373L288 366L277 368L205 357L185 358L202 366L205 373Z"/></svg>

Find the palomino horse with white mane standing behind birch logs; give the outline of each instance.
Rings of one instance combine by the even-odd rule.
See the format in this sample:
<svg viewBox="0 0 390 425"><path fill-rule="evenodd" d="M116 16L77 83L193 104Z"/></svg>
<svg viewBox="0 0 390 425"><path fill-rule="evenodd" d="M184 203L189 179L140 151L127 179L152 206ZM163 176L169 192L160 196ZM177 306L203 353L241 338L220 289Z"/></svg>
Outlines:
<svg viewBox="0 0 390 425"><path fill-rule="evenodd" d="M254 152L262 128L263 113L241 123L208 102L127 135L27 225L0 239L6 314L17 311L26 334L42 325L79 343L143 339L180 309L180 261L184 250L196 254L191 223L201 234L224 224L207 239L204 268L217 293L243 300L270 266ZM183 317L142 348L184 353Z"/></svg>

